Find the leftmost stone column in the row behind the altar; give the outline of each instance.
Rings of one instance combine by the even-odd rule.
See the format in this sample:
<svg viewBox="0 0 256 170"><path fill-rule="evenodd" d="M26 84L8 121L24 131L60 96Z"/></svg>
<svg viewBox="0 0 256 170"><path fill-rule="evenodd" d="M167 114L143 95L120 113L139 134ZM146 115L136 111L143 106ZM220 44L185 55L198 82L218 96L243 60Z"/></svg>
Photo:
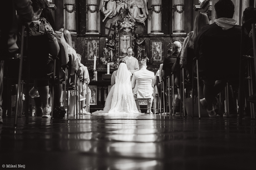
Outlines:
<svg viewBox="0 0 256 170"><path fill-rule="evenodd" d="M76 32L76 4L75 0L66 0L65 6L65 28L70 32Z"/></svg>

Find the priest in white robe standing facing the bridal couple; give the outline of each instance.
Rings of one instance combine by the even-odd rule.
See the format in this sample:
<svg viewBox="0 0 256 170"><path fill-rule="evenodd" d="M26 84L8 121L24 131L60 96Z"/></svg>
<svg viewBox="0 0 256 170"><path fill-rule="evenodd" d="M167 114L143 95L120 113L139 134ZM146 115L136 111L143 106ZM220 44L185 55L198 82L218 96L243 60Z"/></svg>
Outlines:
<svg viewBox="0 0 256 170"><path fill-rule="evenodd" d="M132 48L127 48L127 56L124 60L126 61L127 69L131 71L131 74L134 74L135 71L139 70L138 60L132 56Z"/></svg>

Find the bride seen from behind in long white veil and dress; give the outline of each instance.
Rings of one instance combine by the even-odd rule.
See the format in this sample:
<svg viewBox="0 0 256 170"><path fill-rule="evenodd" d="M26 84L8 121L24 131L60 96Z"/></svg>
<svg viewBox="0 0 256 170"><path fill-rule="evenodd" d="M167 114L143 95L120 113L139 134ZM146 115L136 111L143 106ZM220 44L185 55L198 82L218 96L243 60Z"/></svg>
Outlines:
<svg viewBox="0 0 256 170"><path fill-rule="evenodd" d="M132 94L131 72L125 63L120 62L115 84L107 95L104 109L92 114L139 114Z"/></svg>

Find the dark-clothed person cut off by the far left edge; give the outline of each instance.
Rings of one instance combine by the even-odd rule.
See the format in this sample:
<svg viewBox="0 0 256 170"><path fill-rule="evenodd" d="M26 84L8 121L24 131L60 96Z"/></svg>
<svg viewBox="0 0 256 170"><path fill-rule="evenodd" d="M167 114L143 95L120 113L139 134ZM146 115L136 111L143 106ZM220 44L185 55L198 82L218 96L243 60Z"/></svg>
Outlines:
<svg viewBox="0 0 256 170"><path fill-rule="evenodd" d="M18 19L22 20L22 22L31 22L34 16L31 1L29 0L2 1L1 5L5 10L1 10L0 12L0 21L2 23L0 25L0 124L3 123L2 92L4 58L18 50L16 43ZM7 27L7 25L9 25L9 27Z"/></svg>

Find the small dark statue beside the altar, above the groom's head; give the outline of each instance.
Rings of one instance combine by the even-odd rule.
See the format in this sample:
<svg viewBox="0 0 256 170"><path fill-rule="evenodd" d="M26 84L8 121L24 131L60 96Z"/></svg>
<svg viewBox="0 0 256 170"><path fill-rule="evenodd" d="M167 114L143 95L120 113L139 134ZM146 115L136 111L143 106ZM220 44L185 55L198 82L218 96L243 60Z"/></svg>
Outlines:
<svg viewBox="0 0 256 170"><path fill-rule="evenodd" d="M135 56L136 59L141 61L141 59L146 58L146 53L145 53L145 38L139 38L138 34L135 34Z"/></svg>

